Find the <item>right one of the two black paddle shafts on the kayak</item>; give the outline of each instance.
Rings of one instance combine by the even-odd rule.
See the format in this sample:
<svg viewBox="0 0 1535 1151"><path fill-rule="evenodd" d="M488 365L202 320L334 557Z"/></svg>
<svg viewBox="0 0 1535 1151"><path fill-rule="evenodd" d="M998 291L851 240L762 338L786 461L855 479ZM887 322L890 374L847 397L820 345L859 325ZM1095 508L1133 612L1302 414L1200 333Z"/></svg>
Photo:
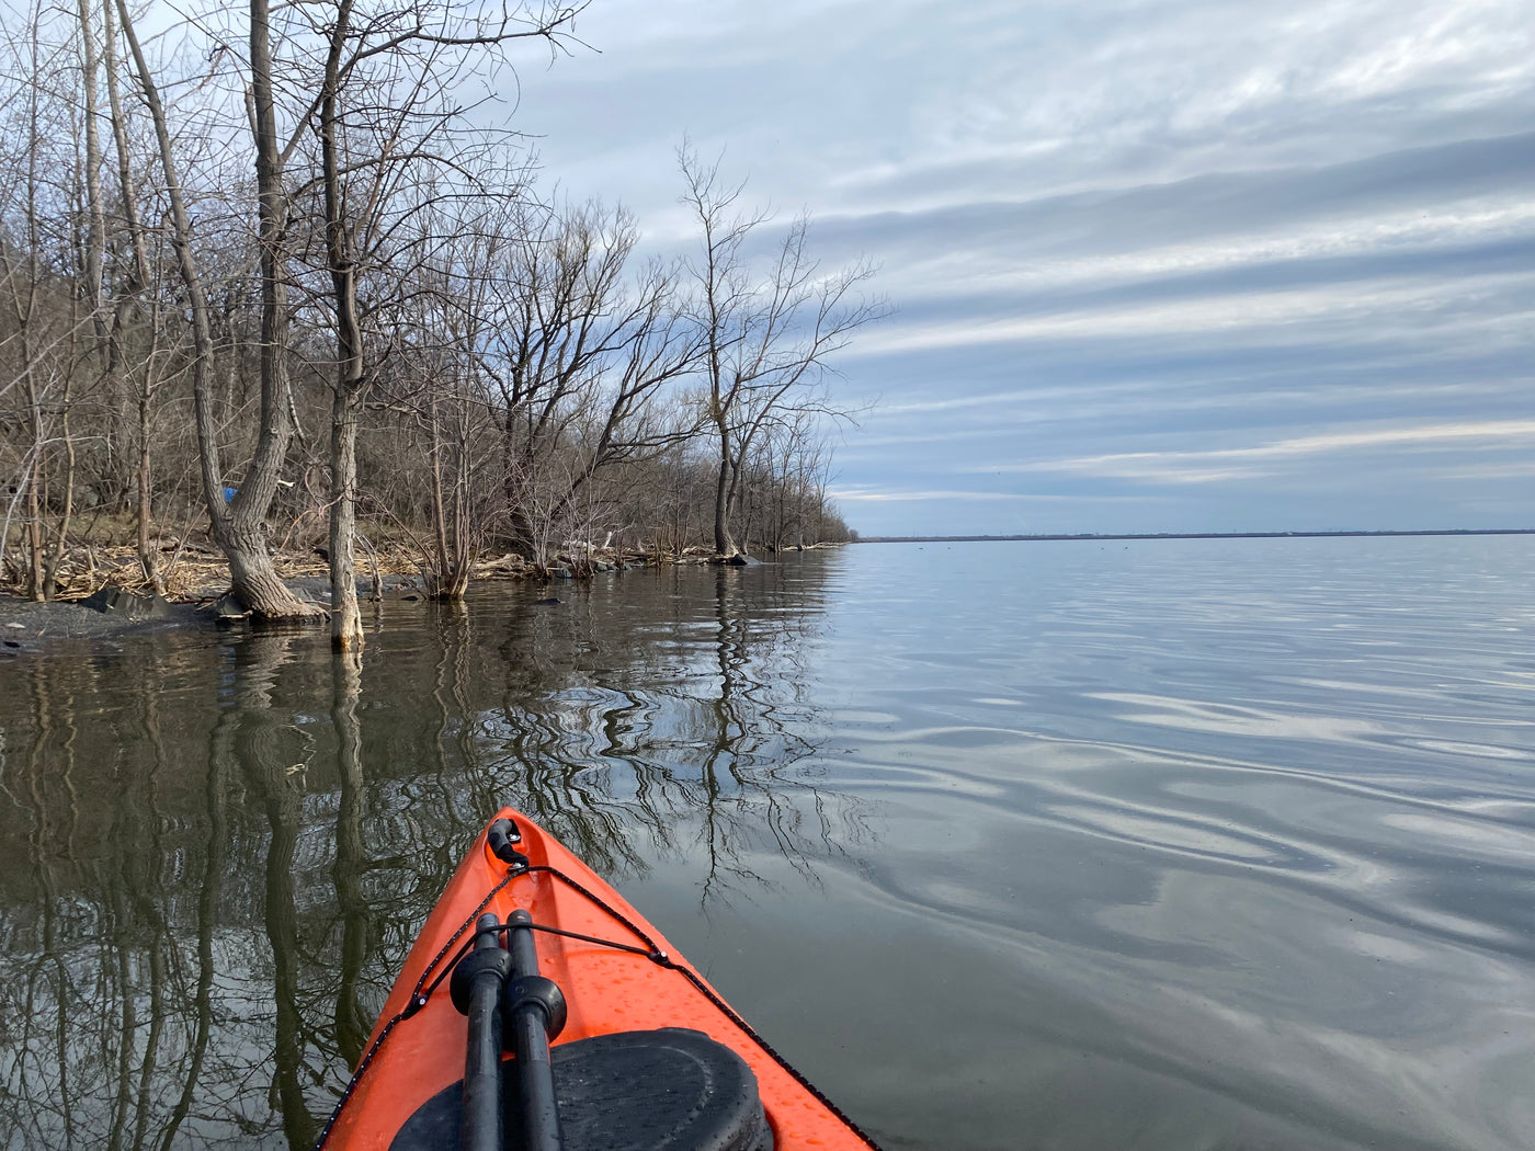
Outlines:
<svg viewBox="0 0 1535 1151"><path fill-rule="evenodd" d="M550 1033L565 1025L565 1002L559 988L539 976L539 951L533 922L523 910L507 918L507 948L514 979L507 984L503 1025L511 1031L517 1056L517 1090L522 1094L523 1151L562 1151L560 1113L554 1103L554 1070L550 1065Z"/></svg>

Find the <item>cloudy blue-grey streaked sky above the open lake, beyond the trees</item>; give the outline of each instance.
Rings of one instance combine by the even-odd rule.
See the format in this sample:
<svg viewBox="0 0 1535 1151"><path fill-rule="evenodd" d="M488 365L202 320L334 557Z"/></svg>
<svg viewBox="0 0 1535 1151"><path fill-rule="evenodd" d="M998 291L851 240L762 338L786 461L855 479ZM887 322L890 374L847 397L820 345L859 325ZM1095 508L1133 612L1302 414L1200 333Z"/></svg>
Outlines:
<svg viewBox="0 0 1535 1151"><path fill-rule="evenodd" d="M1535 526L1529 0L593 0L546 180L682 242L675 149L895 315L864 534Z"/></svg>

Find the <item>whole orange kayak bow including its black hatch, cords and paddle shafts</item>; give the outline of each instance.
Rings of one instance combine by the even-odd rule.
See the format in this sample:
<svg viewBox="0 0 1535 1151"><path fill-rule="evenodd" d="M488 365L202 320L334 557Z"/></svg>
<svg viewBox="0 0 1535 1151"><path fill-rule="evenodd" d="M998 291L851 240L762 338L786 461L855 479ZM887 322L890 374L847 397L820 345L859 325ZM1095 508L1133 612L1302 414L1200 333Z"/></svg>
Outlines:
<svg viewBox="0 0 1535 1151"><path fill-rule="evenodd" d="M316 1148L873 1148L639 912L507 807L427 918Z"/></svg>

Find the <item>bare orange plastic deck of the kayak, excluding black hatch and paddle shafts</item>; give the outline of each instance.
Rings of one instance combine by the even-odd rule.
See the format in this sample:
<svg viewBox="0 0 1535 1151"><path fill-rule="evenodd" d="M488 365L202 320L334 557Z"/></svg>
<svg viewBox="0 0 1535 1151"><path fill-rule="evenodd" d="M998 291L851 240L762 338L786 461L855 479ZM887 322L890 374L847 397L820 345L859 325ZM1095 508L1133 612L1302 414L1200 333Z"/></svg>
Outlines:
<svg viewBox="0 0 1535 1151"><path fill-rule="evenodd" d="M520 832L514 847L520 856L511 856L511 864L496 855L487 835L502 820ZM511 855L500 841L496 847ZM731 1048L755 1074L777 1148L875 1146L623 896L510 807L479 833L422 927L322 1146L390 1151L411 1116L464 1079L468 1022L450 1001L450 971L474 938L479 916L494 913L505 922L519 909L540 928L534 932L540 975L565 996L556 1056L596 1036L691 1028Z"/></svg>

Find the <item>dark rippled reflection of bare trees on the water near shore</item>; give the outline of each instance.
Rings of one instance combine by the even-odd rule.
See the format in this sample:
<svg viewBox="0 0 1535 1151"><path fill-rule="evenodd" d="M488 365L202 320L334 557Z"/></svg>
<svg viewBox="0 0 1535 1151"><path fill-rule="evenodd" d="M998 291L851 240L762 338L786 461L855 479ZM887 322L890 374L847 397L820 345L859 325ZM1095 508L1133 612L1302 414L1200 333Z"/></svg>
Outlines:
<svg viewBox="0 0 1535 1151"><path fill-rule="evenodd" d="M279 631L6 665L0 1148L309 1146L503 803L609 878L814 882L860 833L817 783L814 591L502 592L391 618L362 668Z"/></svg>

